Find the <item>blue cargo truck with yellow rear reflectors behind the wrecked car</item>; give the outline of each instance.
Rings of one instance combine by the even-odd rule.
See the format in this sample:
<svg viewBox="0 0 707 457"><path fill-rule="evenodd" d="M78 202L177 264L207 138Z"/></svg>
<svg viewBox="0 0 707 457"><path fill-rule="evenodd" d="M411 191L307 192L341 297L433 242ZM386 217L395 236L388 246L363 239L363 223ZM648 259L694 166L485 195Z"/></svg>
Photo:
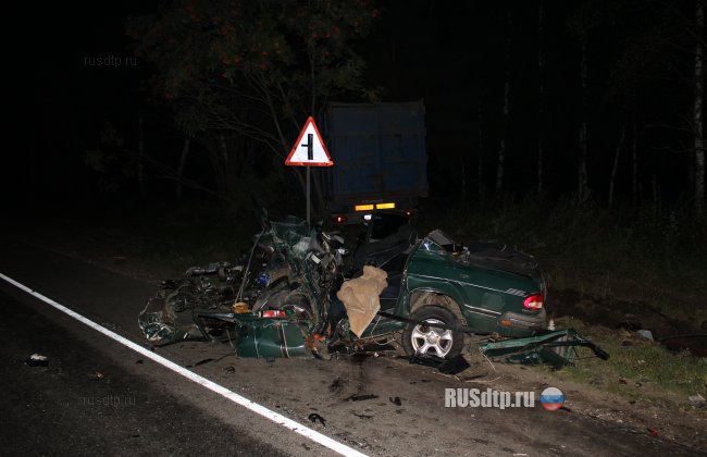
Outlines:
<svg viewBox="0 0 707 457"><path fill-rule="evenodd" d="M360 223L376 209L418 210L427 195L422 100L332 102L320 125L334 161L323 177L334 222Z"/></svg>

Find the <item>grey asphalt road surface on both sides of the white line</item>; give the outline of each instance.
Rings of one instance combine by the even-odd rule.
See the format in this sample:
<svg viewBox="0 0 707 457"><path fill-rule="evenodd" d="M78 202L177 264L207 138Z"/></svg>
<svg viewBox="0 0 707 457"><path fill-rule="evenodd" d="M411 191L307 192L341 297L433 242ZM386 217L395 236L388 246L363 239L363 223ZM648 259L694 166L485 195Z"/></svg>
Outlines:
<svg viewBox="0 0 707 457"><path fill-rule="evenodd" d="M0 243L0 272L145 344L136 320L157 284L44 247ZM2 281L0 330L2 455L332 454ZM186 343L159 351L188 366L218 359L230 347ZM26 366L34 353L49 357L48 367ZM365 454L697 453L571 412L444 408L445 387L473 385L386 357L268 363L228 356L191 370ZM352 403L352 394L376 397ZM394 396L402 406L388 402ZM325 417L326 425L309 423L311 412Z"/></svg>

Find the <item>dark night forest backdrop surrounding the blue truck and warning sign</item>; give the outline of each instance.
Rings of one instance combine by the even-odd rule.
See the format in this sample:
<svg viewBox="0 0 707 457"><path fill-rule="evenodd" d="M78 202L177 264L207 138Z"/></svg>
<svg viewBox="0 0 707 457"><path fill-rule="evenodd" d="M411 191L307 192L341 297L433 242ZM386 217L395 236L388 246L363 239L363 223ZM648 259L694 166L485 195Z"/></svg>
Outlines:
<svg viewBox="0 0 707 457"><path fill-rule="evenodd" d="M300 170L282 159L310 112L424 99L427 211L542 200L697 220L704 3L27 8L5 32L21 139L3 194L20 211L214 202L234 214L255 194L303 212Z"/></svg>

